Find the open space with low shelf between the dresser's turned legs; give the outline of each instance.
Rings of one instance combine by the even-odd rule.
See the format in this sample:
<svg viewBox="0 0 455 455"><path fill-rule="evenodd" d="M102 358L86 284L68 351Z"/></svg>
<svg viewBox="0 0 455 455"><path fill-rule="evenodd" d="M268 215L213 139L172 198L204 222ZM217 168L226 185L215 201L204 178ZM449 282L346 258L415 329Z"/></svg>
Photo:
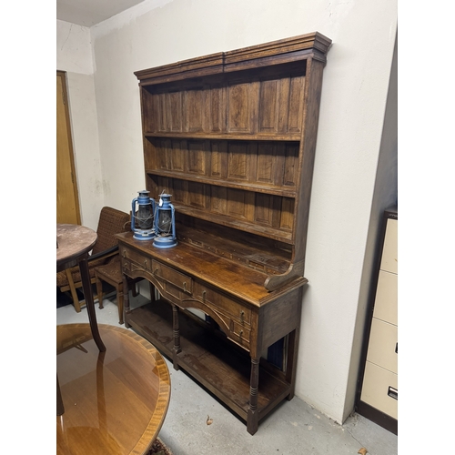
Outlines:
<svg viewBox="0 0 455 455"><path fill-rule="evenodd" d="M157 300L127 313L128 323L150 341L168 359L173 359L174 333L172 308L165 300ZM180 345L177 366L191 374L217 398L227 403L247 420L250 359L243 349L232 343L219 329L210 329L207 322L179 311ZM215 332L218 331L218 333ZM266 365L266 360L262 360ZM272 374L274 371L275 374ZM261 388L258 390L258 412L267 414L269 405L289 393L290 384L282 372L271 365L261 366Z"/></svg>

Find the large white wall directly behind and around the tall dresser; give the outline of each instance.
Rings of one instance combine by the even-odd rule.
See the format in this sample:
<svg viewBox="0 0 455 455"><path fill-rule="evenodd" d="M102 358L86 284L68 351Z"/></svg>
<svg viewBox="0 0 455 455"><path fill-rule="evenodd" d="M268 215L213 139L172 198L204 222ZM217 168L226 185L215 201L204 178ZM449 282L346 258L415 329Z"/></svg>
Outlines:
<svg viewBox="0 0 455 455"><path fill-rule="evenodd" d="M314 31L333 40L319 116L296 394L339 422L354 404L351 358L358 362L361 344L356 320L365 304L360 286L396 9L396 0L146 0L90 29L104 200L123 210L145 186L134 71ZM99 178L97 168L86 172ZM85 213L84 201L82 207Z"/></svg>

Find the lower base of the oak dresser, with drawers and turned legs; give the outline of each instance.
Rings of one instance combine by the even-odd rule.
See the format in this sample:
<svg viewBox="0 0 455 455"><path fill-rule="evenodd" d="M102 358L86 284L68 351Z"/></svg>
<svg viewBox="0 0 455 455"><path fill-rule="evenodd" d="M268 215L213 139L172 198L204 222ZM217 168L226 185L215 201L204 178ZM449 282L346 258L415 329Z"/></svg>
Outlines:
<svg viewBox="0 0 455 455"><path fill-rule="evenodd" d="M175 369L184 369L197 379L247 422L250 434L256 433L259 420L283 399L294 396L302 292L307 279L268 292L255 286L263 274L210 252L185 244L158 249L134 239L132 233L117 238L124 286L126 277L146 278L160 296L131 309L125 292L126 328L150 341L172 359ZM183 261L177 263L176 259ZM215 286L209 282L213 277L204 270L213 268L214 261L218 268L229 268L237 277L238 289L246 285L248 292L243 298L238 292L234 295L221 290L229 287L228 275L217 277ZM235 288L235 283L232 285ZM209 322L190 309L203 311ZM288 340L287 356L284 368L278 369L261 356L283 338Z"/></svg>

